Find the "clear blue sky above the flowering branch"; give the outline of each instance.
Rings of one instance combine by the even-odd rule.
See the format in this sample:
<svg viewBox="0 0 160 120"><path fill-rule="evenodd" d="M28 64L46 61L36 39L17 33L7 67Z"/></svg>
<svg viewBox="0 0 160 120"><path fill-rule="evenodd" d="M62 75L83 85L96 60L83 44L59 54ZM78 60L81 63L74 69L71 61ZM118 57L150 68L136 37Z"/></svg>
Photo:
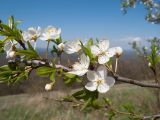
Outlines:
<svg viewBox="0 0 160 120"><path fill-rule="evenodd" d="M125 49L129 41L160 36L160 26L145 21L142 5L125 15L120 9L120 0L0 0L0 19L7 22L14 15L24 31L52 25L62 29L64 40L108 39Z"/></svg>

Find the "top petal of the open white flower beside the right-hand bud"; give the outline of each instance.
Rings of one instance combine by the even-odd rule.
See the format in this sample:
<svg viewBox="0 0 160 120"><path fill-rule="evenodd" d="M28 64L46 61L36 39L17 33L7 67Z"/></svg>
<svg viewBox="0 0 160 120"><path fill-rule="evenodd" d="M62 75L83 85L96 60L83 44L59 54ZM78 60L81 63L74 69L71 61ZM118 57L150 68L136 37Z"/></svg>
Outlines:
<svg viewBox="0 0 160 120"><path fill-rule="evenodd" d="M101 51L103 51L103 52L107 51L109 48L109 40L99 41L98 46L101 49Z"/></svg>

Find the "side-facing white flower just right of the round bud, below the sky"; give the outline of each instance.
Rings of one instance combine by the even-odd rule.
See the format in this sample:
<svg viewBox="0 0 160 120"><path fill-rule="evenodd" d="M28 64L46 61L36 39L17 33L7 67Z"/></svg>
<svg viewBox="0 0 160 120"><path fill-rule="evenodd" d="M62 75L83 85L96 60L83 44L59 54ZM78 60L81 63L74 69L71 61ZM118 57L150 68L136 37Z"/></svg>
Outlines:
<svg viewBox="0 0 160 120"><path fill-rule="evenodd" d="M64 47L64 51L67 54L73 54L81 50L81 43L79 40L73 42L67 42Z"/></svg>

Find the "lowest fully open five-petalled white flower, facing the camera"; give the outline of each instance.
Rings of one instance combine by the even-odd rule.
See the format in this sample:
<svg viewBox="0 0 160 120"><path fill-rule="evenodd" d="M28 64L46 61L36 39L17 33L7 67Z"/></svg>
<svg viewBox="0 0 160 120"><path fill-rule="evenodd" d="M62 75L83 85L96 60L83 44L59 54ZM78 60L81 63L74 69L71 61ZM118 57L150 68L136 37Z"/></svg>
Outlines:
<svg viewBox="0 0 160 120"><path fill-rule="evenodd" d="M115 79L107 76L105 66L101 65L97 68L97 72L88 71L87 78L90 82L85 85L89 91L98 90L99 93L107 92L115 83Z"/></svg>

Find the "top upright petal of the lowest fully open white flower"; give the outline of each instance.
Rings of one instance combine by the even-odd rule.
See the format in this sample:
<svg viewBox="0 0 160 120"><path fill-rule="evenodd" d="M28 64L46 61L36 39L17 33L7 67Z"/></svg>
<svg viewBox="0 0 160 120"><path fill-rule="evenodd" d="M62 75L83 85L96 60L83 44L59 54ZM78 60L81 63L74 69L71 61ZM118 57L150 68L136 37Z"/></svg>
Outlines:
<svg viewBox="0 0 160 120"><path fill-rule="evenodd" d="M97 68L98 77L105 80L107 77L107 68L104 65L100 65Z"/></svg>

